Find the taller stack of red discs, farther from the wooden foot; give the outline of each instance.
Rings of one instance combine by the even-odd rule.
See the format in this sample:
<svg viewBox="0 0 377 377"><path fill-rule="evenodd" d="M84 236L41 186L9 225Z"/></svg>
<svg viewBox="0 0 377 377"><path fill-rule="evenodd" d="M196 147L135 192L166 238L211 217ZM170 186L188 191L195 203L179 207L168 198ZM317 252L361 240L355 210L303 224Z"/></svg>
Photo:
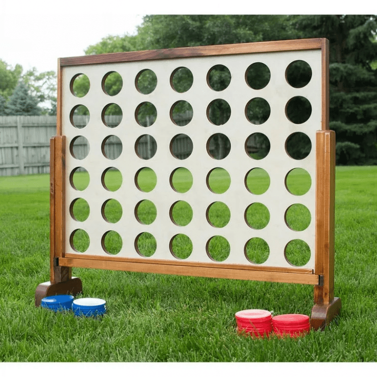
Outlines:
<svg viewBox="0 0 377 377"><path fill-rule="evenodd" d="M267 310L248 309L235 314L238 332L253 337L264 337L272 331L272 315Z"/></svg>

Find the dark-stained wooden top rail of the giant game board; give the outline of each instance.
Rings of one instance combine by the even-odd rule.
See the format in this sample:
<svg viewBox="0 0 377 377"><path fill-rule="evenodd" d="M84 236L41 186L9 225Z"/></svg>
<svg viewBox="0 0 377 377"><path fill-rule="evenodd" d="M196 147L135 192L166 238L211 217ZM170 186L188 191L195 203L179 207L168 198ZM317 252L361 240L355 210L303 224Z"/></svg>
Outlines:
<svg viewBox="0 0 377 377"><path fill-rule="evenodd" d="M274 51L321 49L323 38L235 43L228 45L181 47L174 49L115 52L110 54L65 57L59 59L60 67L82 64L102 64L138 60L173 59L178 57L246 54Z"/></svg>

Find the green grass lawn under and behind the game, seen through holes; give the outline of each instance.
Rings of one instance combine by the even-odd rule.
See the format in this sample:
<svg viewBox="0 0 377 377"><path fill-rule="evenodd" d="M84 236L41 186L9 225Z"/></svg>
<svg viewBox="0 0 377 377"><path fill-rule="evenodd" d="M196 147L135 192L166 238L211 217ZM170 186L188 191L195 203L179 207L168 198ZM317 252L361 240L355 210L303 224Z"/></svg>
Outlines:
<svg viewBox="0 0 377 377"><path fill-rule="evenodd" d="M251 173L259 178L246 182L248 189L263 192L268 178L260 171ZM175 190L190 185L185 174L182 170L174 175ZM342 300L341 317L325 331L300 340L239 336L234 314L258 308L273 315L310 315L313 287L307 285L74 268L73 275L83 282L83 297L105 299L107 314L96 320L35 308L35 289L49 278L49 176L0 177L0 361L377 361L376 177L376 166L337 167L335 296ZM115 175L106 179L109 187L118 183ZM298 195L297 190L305 192L305 179L300 172L292 174L288 189ZM155 181L150 172L142 171L137 183L150 191ZM229 182L219 170L208 185L224 192ZM177 224L190 221L189 207L180 203L174 209L171 216ZM153 220L148 203L139 210L140 221ZM85 211L85 204L78 202L74 216L84 219ZM119 211L116 203L109 202L105 216L118 221ZM223 226L226 209L219 205L212 211L211 222ZM262 207L248 211L250 226L268 222ZM308 221L300 207L287 215L293 229L305 228ZM174 242L178 257L185 258L189 241L180 237ZM140 240L146 253L149 243ZM116 239L109 240L110 247L116 249ZM224 257L216 254L216 246L213 252L214 258ZM257 263L265 257L262 244L249 245L247 252Z"/></svg>

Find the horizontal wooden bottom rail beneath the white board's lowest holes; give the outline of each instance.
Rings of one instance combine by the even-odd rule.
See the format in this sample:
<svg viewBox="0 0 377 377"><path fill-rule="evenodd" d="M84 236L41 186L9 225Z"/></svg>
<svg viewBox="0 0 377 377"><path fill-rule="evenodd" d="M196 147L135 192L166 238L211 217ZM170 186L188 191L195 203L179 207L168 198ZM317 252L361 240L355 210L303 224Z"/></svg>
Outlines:
<svg viewBox="0 0 377 377"><path fill-rule="evenodd" d="M184 276L201 276L201 277L220 277L227 279L240 279L240 280L257 280L257 281L271 281L271 282L287 282L297 284L318 285L319 275L314 273L304 272L291 272L290 269L284 271L276 270L258 270L258 269L245 269L233 268L229 266L205 265L203 263L184 264L184 263L169 263L163 261L144 261L135 260L109 260L109 259L84 259L64 257L59 258L59 266L67 267L82 267L82 268L98 268L109 269L118 271L132 271L132 272L153 272L172 275ZM292 269L293 270L293 269Z"/></svg>

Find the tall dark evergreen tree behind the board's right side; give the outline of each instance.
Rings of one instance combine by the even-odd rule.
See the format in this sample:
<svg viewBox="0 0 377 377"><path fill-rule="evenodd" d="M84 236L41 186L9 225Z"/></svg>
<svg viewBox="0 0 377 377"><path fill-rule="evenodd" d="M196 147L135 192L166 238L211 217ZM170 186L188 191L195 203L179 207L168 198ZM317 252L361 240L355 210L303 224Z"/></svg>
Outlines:
<svg viewBox="0 0 377 377"><path fill-rule="evenodd" d="M306 38L330 41L330 128L338 164L377 163L377 17L301 16Z"/></svg>

